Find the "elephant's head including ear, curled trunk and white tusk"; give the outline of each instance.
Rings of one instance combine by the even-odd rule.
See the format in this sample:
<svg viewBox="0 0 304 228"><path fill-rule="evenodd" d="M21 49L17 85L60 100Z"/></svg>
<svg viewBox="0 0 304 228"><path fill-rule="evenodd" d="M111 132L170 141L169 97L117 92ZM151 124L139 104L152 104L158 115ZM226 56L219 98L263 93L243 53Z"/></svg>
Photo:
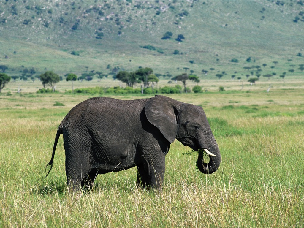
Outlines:
<svg viewBox="0 0 304 228"><path fill-rule="evenodd" d="M145 113L148 121L156 126L170 143L176 138L184 146L199 151L199 171L211 174L219 168L219 146L202 107L156 95L150 98ZM202 150L209 154L208 163L203 162Z"/></svg>

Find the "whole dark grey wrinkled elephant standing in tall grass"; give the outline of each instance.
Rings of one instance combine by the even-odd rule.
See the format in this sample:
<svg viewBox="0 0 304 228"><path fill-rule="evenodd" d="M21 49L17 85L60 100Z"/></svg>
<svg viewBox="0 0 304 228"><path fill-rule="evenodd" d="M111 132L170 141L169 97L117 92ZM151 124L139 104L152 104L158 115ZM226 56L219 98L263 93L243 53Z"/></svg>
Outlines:
<svg viewBox="0 0 304 228"><path fill-rule="evenodd" d="M202 173L215 172L221 162L202 107L161 95L130 101L95 97L79 103L58 127L48 163L51 168L60 134L67 185L73 190L92 187L98 174L135 166L141 187L161 188L165 155L174 139L195 151L208 149L216 155L209 156L209 164L199 155L197 165Z"/></svg>

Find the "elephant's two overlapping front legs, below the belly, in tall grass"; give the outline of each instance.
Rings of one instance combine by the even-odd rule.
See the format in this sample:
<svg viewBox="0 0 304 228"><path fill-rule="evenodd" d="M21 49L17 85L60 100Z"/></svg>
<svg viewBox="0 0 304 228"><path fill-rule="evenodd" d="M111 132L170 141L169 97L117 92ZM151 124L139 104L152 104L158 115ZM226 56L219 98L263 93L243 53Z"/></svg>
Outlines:
<svg viewBox="0 0 304 228"><path fill-rule="evenodd" d="M137 183L142 188L160 189L164 183L165 156L149 159L143 156L143 163L137 166Z"/></svg>

